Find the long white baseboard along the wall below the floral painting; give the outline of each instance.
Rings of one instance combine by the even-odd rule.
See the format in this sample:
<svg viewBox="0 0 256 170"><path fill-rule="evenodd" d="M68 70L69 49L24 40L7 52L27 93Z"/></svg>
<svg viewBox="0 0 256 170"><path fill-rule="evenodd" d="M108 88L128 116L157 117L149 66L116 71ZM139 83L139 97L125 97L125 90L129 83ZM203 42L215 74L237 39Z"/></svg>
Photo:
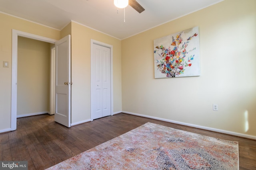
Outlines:
<svg viewBox="0 0 256 170"><path fill-rule="evenodd" d="M211 128L211 127L194 125L194 124L184 123L184 122L180 122L180 121L173 121L173 120L163 119L163 118L159 118L159 117L140 115L140 114L137 114L137 113L131 113L131 112L127 112L127 111L122 111L122 113L130 114L130 115L136 115L136 116L141 116L141 117L147 117L147 118L161 120L161 121L166 121L166 122L175 123L175 124L179 124L179 125L185 125L185 126L195 127L195 128L199 128L199 129L208 130L208 131L214 131L214 132L219 132L219 133L224 133L224 134L228 134L228 135L234 135L234 136L238 136L238 137L244 137L244 138L256 140L256 136L253 136L253 135L246 135L246 134L243 134L243 133L236 133L236 132L232 132L232 131L225 131L225 130L222 130L222 129L215 129L215 128Z"/></svg>

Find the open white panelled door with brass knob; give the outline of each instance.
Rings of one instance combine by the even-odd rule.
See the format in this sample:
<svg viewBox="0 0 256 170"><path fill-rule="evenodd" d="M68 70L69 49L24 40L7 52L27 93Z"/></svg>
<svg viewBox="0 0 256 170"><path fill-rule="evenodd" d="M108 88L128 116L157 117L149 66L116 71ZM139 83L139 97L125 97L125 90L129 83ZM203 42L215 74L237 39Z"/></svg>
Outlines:
<svg viewBox="0 0 256 170"><path fill-rule="evenodd" d="M71 45L70 35L55 43L55 103L56 122L70 127L71 124Z"/></svg>

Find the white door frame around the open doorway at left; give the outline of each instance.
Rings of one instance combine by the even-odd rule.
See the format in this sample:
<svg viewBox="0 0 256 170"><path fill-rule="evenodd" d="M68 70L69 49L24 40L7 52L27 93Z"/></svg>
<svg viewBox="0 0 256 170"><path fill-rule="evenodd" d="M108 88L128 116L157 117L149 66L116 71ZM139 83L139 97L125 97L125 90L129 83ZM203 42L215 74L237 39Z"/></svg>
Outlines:
<svg viewBox="0 0 256 170"><path fill-rule="evenodd" d="M17 128L17 67L18 36L55 44L57 40L12 29L12 94L11 94L11 131ZM52 86L52 85L51 85Z"/></svg>

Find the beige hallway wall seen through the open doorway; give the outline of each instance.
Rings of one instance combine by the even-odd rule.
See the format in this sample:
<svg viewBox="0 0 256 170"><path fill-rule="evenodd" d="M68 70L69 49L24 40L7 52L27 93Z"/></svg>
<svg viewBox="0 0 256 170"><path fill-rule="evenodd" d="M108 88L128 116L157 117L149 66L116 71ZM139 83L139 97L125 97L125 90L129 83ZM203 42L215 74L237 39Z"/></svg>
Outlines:
<svg viewBox="0 0 256 170"><path fill-rule="evenodd" d="M18 37L17 116L50 111L50 43Z"/></svg>

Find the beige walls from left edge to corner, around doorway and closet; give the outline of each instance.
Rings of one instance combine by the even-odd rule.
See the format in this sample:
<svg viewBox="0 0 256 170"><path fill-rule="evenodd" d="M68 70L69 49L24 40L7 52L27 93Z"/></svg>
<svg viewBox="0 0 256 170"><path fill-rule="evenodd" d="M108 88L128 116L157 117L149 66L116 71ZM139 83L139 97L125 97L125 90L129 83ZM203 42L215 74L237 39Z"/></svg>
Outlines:
<svg viewBox="0 0 256 170"><path fill-rule="evenodd" d="M121 41L70 22L62 31L0 13L0 63L9 61L9 68L0 67L0 132L11 125L12 29L60 39L71 34L72 39L72 122L90 120L90 42L91 39L113 45L114 113L122 111Z"/></svg>

